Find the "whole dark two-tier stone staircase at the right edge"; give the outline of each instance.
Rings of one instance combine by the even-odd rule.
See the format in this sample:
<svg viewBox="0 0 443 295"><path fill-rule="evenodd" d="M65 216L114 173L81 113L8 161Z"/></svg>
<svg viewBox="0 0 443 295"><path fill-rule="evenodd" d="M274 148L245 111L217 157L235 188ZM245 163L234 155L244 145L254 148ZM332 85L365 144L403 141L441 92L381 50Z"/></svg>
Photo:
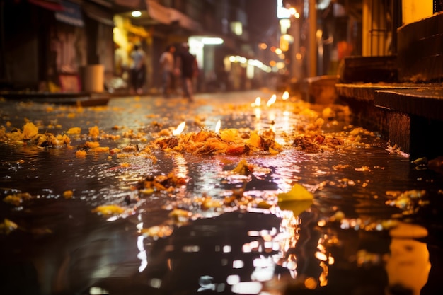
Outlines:
<svg viewBox="0 0 443 295"><path fill-rule="evenodd" d="M335 91L410 158L443 156L443 13L398 28L397 55L350 57Z"/></svg>

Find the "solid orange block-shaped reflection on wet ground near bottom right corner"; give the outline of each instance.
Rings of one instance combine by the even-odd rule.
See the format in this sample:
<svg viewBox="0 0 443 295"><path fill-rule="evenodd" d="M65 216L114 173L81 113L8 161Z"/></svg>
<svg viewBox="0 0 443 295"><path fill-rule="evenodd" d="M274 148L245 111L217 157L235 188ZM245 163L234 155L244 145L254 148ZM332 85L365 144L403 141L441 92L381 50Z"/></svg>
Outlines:
<svg viewBox="0 0 443 295"><path fill-rule="evenodd" d="M389 286L401 285L412 291L413 295L420 295L425 286L431 264L429 251L425 243L418 238L425 234L426 229L413 224L400 224L389 232L392 236L390 245L391 256L386 264Z"/></svg>

